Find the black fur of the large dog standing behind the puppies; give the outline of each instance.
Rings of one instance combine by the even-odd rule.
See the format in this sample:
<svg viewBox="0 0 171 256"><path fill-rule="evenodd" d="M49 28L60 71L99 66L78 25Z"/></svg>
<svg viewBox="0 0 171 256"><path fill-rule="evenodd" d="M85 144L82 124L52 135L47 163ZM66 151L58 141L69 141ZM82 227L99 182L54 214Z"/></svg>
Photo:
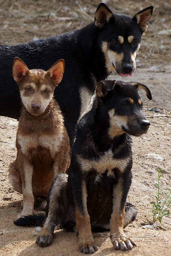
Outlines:
<svg viewBox="0 0 171 256"><path fill-rule="evenodd" d="M16 119L20 115L22 105L19 89L12 77L14 57L22 59L29 69L45 71L57 60L64 59L65 72L54 95L64 115L65 127L72 145L81 110L80 88L86 88L93 95L97 83L109 76L101 49L102 41L109 41L114 52L124 52L125 63L130 61L130 53L138 46L130 46L128 43L115 46L111 40L118 35L133 35L140 42L142 31L135 18L114 14L109 24L105 24L102 29L91 23L79 30L27 44L0 45L0 115Z"/></svg>

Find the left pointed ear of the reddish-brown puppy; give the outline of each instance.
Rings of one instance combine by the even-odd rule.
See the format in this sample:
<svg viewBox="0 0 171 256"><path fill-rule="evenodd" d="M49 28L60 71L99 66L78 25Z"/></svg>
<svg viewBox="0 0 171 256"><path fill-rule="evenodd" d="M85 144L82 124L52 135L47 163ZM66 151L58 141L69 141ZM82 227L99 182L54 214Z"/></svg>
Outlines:
<svg viewBox="0 0 171 256"><path fill-rule="evenodd" d="M14 80L17 83L20 83L28 73L29 69L25 63L20 58L15 57L12 66L12 75Z"/></svg>

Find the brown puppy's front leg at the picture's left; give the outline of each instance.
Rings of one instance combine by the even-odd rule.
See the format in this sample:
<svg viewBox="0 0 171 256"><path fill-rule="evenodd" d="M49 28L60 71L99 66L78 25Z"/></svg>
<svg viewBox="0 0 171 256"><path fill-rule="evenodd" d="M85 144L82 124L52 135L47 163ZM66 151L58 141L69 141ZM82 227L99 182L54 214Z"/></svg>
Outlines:
<svg viewBox="0 0 171 256"><path fill-rule="evenodd" d="M33 214L34 197L32 192L32 173L33 165L28 157L23 156L20 159L20 174L22 177L23 210L17 216L17 219L25 215Z"/></svg>

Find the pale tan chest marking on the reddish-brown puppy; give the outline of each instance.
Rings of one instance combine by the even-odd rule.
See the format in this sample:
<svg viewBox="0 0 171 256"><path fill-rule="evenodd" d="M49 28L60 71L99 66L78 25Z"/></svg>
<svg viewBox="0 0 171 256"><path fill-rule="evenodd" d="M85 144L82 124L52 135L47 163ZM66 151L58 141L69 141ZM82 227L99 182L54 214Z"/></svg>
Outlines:
<svg viewBox="0 0 171 256"><path fill-rule="evenodd" d="M48 148L52 157L60 150L63 135L17 135L17 141L21 147L22 153L28 155L30 148L37 148L42 146Z"/></svg>

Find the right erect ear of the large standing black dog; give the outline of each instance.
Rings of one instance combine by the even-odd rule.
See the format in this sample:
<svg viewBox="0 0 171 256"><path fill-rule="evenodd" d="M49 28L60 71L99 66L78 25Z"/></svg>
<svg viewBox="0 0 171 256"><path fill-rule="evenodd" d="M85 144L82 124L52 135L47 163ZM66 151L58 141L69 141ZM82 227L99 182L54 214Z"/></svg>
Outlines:
<svg viewBox="0 0 171 256"><path fill-rule="evenodd" d="M149 7L145 8L144 10L135 14L135 16L133 17L133 20L135 20L137 22L142 33L144 31L146 31L146 29L148 27L148 22L151 19L152 13L153 13L153 6L149 6Z"/></svg>

